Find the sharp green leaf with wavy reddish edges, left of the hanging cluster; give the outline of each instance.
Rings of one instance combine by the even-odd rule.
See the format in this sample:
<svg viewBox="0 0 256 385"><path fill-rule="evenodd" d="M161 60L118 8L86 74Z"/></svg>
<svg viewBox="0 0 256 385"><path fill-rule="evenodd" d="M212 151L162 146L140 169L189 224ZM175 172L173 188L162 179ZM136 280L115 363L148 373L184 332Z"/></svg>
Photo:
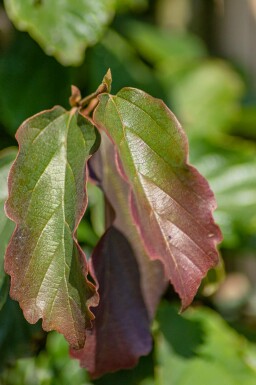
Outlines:
<svg viewBox="0 0 256 385"><path fill-rule="evenodd" d="M42 318L45 330L81 348L98 297L75 232L87 205L86 163L99 134L75 108L55 107L25 121L16 137L6 203L16 222L5 256L10 294L30 323Z"/></svg>

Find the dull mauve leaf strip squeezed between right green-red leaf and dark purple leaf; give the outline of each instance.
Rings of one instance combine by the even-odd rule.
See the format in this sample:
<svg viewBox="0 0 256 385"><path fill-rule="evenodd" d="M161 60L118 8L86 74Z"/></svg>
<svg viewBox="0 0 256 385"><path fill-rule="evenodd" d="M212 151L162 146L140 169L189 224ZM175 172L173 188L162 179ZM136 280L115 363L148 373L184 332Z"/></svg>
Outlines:
<svg viewBox="0 0 256 385"><path fill-rule="evenodd" d="M89 162L90 174L102 188L107 203L115 212L113 225L129 241L140 270L140 285L150 319L153 319L163 292L167 287L162 264L151 261L139 233L134 226L129 208L129 184L120 177L117 169L115 147L104 132L101 132L101 146ZM111 223L112 224L112 223Z"/></svg>

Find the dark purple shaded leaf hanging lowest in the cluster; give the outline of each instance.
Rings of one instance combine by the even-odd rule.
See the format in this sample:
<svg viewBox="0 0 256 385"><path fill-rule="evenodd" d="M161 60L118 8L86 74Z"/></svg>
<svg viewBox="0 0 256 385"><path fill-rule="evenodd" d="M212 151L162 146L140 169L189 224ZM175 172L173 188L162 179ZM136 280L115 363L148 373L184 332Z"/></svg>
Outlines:
<svg viewBox="0 0 256 385"><path fill-rule="evenodd" d="M72 356L97 378L134 366L138 357L149 353L152 342L138 264L128 241L115 227L101 238L92 261L100 304L94 310L94 328L84 349L73 351Z"/></svg>

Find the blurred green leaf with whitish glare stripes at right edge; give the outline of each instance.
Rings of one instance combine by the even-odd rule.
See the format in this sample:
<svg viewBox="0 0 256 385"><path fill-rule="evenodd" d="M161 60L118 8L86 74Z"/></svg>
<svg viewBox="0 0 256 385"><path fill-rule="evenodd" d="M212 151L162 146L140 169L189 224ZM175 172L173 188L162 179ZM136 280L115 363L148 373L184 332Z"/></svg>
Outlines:
<svg viewBox="0 0 256 385"><path fill-rule="evenodd" d="M245 245L244 235L256 233L255 146L231 137L193 141L193 163L207 178L218 208L214 213L224 239L223 246Z"/></svg>

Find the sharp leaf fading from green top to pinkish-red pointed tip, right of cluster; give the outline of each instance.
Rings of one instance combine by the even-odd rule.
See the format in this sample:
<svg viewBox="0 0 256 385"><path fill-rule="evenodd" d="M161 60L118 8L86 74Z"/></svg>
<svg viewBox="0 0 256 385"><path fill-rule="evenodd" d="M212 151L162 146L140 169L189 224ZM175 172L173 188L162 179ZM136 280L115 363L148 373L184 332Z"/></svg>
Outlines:
<svg viewBox="0 0 256 385"><path fill-rule="evenodd" d="M186 136L162 101L132 88L99 100L94 121L118 149L144 246L162 261L184 309L218 263L221 233L212 218L213 193L188 164Z"/></svg>

